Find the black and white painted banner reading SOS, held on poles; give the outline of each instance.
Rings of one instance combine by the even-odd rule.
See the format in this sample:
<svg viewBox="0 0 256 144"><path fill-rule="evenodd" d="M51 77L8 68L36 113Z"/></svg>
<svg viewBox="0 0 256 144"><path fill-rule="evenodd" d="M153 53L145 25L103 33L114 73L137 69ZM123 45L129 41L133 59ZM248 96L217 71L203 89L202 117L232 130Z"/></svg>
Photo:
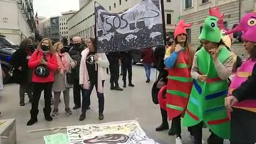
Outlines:
<svg viewBox="0 0 256 144"><path fill-rule="evenodd" d="M97 52L121 52L164 46L160 0L143 0L114 14L95 3Z"/></svg>

